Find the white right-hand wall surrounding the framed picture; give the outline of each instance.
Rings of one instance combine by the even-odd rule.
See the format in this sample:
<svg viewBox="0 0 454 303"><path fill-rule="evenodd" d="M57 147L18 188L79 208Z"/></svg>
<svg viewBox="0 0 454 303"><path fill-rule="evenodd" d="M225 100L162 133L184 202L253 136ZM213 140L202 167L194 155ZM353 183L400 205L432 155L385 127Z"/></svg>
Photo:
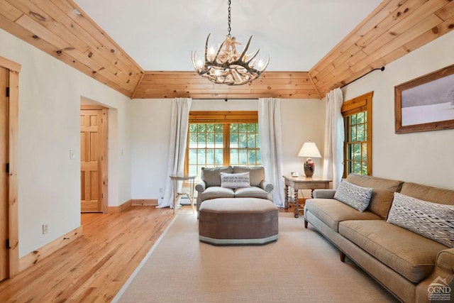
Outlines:
<svg viewBox="0 0 454 303"><path fill-rule="evenodd" d="M343 89L345 100L374 91L373 175L454 189L454 129L394 133L394 87L454 64L453 54L450 32Z"/></svg>

